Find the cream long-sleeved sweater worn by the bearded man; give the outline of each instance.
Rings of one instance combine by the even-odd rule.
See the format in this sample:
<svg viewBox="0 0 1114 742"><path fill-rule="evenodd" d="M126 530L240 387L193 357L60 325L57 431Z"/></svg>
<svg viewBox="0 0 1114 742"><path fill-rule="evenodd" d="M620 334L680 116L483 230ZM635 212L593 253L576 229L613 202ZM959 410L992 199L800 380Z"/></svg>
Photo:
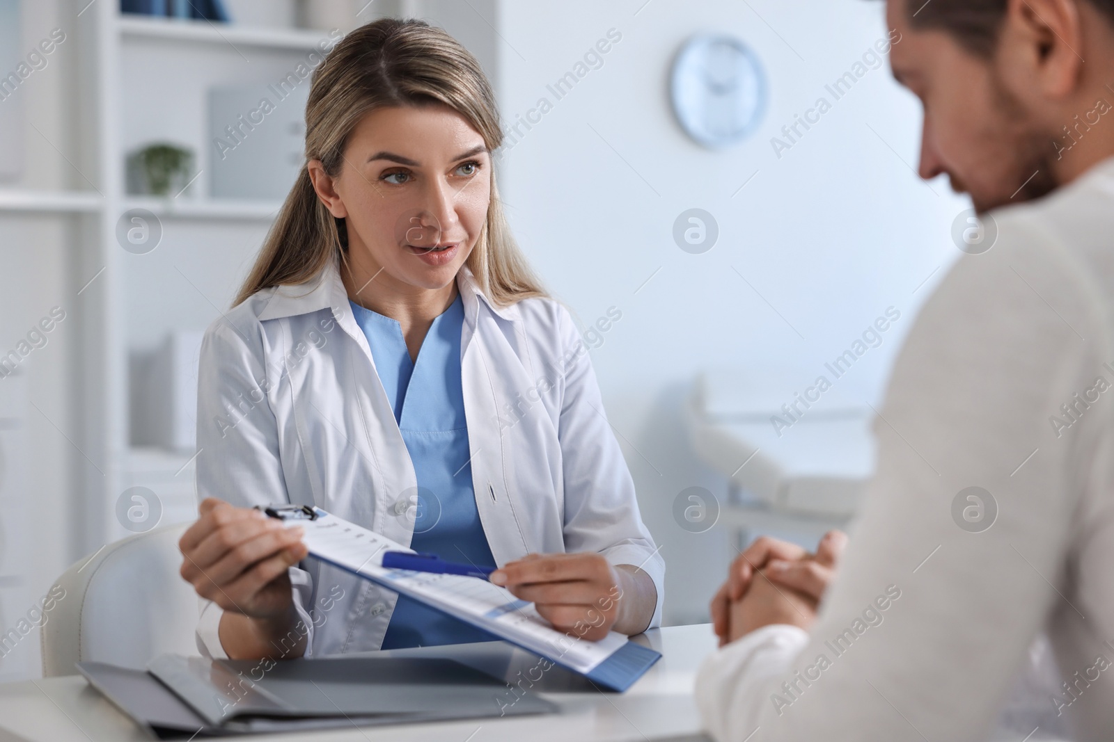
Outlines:
<svg viewBox="0 0 1114 742"><path fill-rule="evenodd" d="M702 667L717 740L987 740L1042 633L1058 676L1032 740L1114 740L1114 160L993 220L898 358L811 633Z"/></svg>

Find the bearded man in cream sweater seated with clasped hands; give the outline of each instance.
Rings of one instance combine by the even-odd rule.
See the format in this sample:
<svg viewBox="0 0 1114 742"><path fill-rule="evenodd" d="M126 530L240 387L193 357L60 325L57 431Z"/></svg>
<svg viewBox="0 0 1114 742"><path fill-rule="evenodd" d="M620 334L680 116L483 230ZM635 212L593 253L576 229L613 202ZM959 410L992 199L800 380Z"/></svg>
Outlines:
<svg viewBox="0 0 1114 742"><path fill-rule="evenodd" d="M1045 715L1114 740L1114 0L887 17L920 176L970 194L993 247L900 354L846 551L763 540L731 566L697 702L724 742L986 740L1044 632Z"/></svg>

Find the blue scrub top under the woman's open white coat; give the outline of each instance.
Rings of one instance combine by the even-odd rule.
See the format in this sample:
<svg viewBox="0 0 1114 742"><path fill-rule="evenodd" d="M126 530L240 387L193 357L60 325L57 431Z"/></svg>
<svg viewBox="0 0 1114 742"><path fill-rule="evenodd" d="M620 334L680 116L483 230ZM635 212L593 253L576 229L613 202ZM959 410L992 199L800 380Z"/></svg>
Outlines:
<svg viewBox="0 0 1114 742"><path fill-rule="evenodd" d="M418 475L417 512L410 511L414 517L410 547L449 562L495 565L472 489L460 380L460 334L465 323L460 295L433 320L414 363L410 360L398 320L350 304L371 346L379 380ZM382 649L496 639L400 595Z"/></svg>

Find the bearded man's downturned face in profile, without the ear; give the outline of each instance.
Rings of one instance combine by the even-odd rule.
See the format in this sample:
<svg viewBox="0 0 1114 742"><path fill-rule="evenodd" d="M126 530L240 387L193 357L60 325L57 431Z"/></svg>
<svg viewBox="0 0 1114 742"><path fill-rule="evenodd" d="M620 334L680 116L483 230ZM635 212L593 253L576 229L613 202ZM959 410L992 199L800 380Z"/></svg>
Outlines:
<svg viewBox="0 0 1114 742"><path fill-rule="evenodd" d="M924 106L918 175L947 174L979 211L1051 191L1051 137L1004 82L1001 55L983 59L942 29L913 28L911 12L910 0L887 2L887 23L901 34L893 77Z"/></svg>

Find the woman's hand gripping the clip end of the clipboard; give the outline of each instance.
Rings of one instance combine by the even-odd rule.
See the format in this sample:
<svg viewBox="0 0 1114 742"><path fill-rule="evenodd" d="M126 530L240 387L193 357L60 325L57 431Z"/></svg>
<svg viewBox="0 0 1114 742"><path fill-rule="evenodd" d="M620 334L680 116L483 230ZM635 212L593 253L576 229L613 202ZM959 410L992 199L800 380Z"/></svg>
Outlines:
<svg viewBox="0 0 1114 742"><path fill-rule="evenodd" d="M182 576L226 612L282 620L293 606L287 567L305 558L302 528L248 507L208 497L178 542Z"/></svg>

